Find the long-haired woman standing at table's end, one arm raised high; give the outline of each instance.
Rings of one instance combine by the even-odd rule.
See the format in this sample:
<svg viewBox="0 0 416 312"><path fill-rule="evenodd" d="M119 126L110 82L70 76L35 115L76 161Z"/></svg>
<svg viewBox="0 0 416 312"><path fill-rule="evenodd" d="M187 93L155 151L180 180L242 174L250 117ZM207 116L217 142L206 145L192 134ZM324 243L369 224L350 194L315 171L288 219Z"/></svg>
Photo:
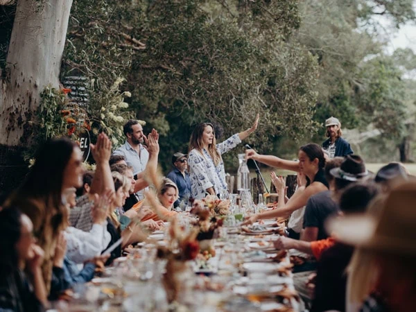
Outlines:
<svg viewBox="0 0 416 312"><path fill-rule="evenodd" d="M200 123L193 129L188 154L193 198L201 199L207 194L218 195L220 191L227 190L221 155L236 147L241 140L254 132L258 123L259 115L257 114L252 128L233 135L220 144L216 144L214 125L211 123Z"/></svg>

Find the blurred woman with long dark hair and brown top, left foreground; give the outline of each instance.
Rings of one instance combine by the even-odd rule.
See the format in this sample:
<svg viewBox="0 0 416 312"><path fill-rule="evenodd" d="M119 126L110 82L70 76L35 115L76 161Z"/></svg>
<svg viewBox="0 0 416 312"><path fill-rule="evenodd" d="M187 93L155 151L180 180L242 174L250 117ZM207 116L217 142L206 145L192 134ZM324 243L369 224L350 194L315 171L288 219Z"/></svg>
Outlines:
<svg viewBox="0 0 416 312"><path fill-rule="evenodd" d="M33 232L44 250L42 275L49 291L53 251L58 234L67 225L62 191L83 185L83 157L78 145L67 138L49 139L37 151L32 166L6 206L20 207L33 222Z"/></svg>

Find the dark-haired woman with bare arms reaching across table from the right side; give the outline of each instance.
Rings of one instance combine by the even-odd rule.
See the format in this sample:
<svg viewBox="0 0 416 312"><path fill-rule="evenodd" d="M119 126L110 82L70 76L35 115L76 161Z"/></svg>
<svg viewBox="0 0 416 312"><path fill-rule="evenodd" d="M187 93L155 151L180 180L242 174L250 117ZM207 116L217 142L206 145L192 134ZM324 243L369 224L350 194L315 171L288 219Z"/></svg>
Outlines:
<svg viewBox="0 0 416 312"><path fill-rule="evenodd" d="M318 144L311 143L301 146L298 153L299 162L272 155L259 155L254 150L246 150L245 156L247 159L254 159L268 166L302 172L306 176L306 188L293 194L286 205L261 214L253 214L245 220L245 224L254 223L259 219L289 216L293 211L304 207L311 196L328 190L328 182L324 177L324 153Z"/></svg>

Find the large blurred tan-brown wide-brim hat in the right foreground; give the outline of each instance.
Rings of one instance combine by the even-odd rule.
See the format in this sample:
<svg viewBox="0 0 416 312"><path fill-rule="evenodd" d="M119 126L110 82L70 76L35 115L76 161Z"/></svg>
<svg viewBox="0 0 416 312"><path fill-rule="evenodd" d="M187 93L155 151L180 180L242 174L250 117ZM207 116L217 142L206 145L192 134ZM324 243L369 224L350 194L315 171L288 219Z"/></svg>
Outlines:
<svg viewBox="0 0 416 312"><path fill-rule="evenodd" d="M331 218L327 230L338 241L365 250L416 257L416 183L404 182L370 214Z"/></svg>

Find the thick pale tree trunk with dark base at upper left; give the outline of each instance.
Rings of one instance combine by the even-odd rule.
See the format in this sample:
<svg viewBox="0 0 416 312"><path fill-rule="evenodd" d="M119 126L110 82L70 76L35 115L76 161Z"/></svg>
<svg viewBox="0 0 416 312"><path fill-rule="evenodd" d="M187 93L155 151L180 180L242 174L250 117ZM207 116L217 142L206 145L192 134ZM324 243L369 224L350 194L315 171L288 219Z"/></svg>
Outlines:
<svg viewBox="0 0 416 312"><path fill-rule="evenodd" d="M72 0L19 0L0 92L0 189L12 189L27 171L21 153L46 85L59 73Z"/></svg>

